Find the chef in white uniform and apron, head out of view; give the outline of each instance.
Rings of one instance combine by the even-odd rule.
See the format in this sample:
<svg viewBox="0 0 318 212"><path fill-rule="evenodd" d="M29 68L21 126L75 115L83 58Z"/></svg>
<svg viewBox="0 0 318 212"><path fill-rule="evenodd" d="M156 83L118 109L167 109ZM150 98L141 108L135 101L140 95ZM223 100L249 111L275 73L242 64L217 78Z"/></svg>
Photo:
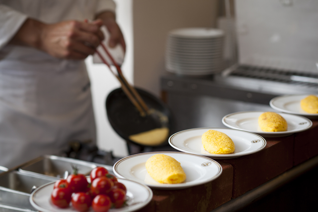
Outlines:
<svg viewBox="0 0 318 212"><path fill-rule="evenodd" d="M114 11L112 0L0 0L0 166L95 142L83 59L103 24L125 47Z"/></svg>

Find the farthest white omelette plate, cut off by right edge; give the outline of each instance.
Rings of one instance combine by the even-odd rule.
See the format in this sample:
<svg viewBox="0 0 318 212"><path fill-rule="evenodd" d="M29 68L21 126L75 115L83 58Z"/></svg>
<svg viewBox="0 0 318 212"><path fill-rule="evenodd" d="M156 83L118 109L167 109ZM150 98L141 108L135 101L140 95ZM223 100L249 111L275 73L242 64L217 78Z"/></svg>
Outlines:
<svg viewBox="0 0 318 212"><path fill-rule="evenodd" d="M278 111L285 113L292 113L296 115L305 116L308 118L318 118L318 113L307 113L303 109L301 109L300 101L301 99L306 98L309 95L317 94L295 94L295 95L282 95L273 98L269 105Z"/></svg>

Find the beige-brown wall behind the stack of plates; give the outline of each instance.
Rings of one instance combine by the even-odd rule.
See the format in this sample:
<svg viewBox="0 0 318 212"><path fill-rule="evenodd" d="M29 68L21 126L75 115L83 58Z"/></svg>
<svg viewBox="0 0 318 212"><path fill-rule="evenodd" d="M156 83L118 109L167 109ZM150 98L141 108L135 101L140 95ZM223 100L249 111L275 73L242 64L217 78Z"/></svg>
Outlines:
<svg viewBox="0 0 318 212"><path fill-rule="evenodd" d="M134 0L134 83L159 96L165 71L168 32L183 27L214 27L217 0Z"/></svg>

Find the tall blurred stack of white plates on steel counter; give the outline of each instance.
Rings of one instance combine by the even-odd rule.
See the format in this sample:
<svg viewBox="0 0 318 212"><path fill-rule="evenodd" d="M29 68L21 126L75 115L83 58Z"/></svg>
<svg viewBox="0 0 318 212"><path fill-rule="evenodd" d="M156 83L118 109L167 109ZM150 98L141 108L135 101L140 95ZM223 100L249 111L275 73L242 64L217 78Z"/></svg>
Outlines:
<svg viewBox="0 0 318 212"><path fill-rule="evenodd" d="M212 28L183 28L169 32L166 69L184 75L220 72L224 32Z"/></svg>

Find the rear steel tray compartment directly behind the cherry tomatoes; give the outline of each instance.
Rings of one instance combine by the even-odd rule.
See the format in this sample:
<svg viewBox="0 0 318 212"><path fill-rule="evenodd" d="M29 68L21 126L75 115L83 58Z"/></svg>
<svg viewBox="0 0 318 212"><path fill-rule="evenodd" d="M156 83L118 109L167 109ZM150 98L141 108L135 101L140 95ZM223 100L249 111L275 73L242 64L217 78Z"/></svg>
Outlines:
<svg viewBox="0 0 318 212"><path fill-rule="evenodd" d="M19 168L22 173L48 175L55 179L66 178L72 174L75 166L79 169L79 173L89 175L91 170L96 167L95 164L86 161L75 160L72 158L64 158L53 155L44 155L33 161L30 161L25 166Z"/></svg>

